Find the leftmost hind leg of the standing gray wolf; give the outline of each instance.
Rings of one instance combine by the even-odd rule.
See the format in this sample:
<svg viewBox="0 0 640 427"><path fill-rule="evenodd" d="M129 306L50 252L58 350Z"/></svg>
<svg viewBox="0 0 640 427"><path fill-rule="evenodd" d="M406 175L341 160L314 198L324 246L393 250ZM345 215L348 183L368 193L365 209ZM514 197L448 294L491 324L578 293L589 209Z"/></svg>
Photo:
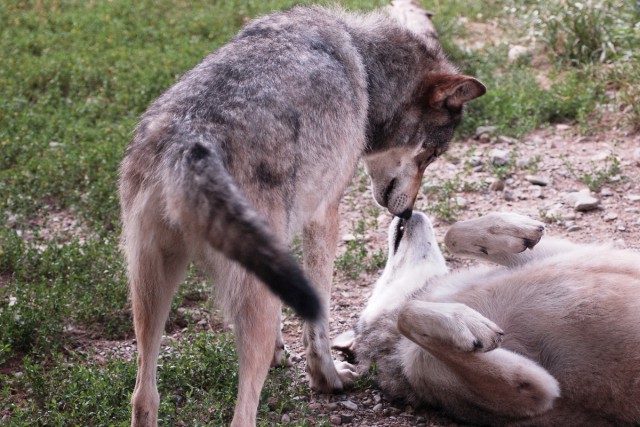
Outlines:
<svg viewBox="0 0 640 427"><path fill-rule="evenodd" d="M148 218L147 218L148 219ZM160 341L171 300L187 269L188 256L182 239L157 223L143 230L126 224L133 321L138 350L138 373L131 398L131 425L157 425L160 397L156 371Z"/></svg>

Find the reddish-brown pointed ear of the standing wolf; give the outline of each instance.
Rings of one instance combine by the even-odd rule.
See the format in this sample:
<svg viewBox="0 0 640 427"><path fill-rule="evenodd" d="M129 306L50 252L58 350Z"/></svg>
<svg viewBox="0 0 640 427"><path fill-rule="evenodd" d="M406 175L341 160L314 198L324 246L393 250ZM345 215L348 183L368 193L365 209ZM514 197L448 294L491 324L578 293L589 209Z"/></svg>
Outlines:
<svg viewBox="0 0 640 427"><path fill-rule="evenodd" d="M426 102L432 108L460 108L486 91L478 79L462 74L437 74L425 82Z"/></svg>

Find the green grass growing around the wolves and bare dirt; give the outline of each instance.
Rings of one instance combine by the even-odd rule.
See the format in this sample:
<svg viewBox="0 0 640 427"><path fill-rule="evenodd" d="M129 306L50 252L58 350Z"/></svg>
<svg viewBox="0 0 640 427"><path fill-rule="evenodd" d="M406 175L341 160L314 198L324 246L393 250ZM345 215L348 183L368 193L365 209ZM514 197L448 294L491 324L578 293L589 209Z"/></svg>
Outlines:
<svg viewBox="0 0 640 427"><path fill-rule="evenodd" d="M7 425L128 424L135 364L100 361L84 350L93 340L132 336L118 250L116 180L124 147L137 118L182 73L251 17L294 3L0 3L0 416ZM386 2L343 4L369 10ZM424 4L436 13L452 59L489 89L470 104L459 137L479 125L521 136L571 122L589 132L603 102L614 102L626 123L640 123L640 11L633 2L594 0L584 2L584 11L542 0ZM463 48L456 40L470 34L460 18L498 23L506 29L502 41ZM546 58L544 70L532 58L507 61L509 45L522 40L532 58ZM548 89L538 83L541 72L552 82ZM606 93L615 94L613 101ZM576 180L595 188L615 174L615 164L609 166ZM362 179L356 185L366 186ZM456 193L467 186L460 178L425 188L432 211L454 219ZM51 226L60 216L74 220L71 230ZM384 254L366 245L364 236L378 227L370 217L377 214L353 225L356 239L337 260L347 280L384 263ZM195 271L174 301L169 326L179 308L193 305L211 305ZM227 422L236 387L229 366L235 354L227 334L189 332L159 371L161 417L175 425ZM221 378L221 367L229 378ZM260 423L298 412L293 396L306 386L295 375L272 373Z"/></svg>

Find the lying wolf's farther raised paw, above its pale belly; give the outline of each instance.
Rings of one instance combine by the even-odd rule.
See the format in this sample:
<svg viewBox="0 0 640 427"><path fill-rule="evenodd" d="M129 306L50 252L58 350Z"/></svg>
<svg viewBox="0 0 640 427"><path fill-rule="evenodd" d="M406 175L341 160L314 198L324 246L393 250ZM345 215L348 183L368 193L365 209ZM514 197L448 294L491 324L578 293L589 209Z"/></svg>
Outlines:
<svg viewBox="0 0 640 427"><path fill-rule="evenodd" d="M524 215L492 212L454 224L445 244L456 254L480 258L516 254L532 249L544 233L544 224Z"/></svg>

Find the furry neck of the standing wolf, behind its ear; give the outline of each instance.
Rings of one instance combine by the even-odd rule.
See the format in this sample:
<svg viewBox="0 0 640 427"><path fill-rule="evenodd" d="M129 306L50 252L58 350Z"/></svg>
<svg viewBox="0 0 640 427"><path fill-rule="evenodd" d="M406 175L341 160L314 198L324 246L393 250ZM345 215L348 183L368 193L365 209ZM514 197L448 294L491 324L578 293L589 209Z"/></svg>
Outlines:
<svg viewBox="0 0 640 427"><path fill-rule="evenodd" d="M417 103L423 82L430 74L457 73L437 36L417 36L384 13L358 16L347 22L353 42L367 72L369 109L367 148L383 150L397 116Z"/></svg>

